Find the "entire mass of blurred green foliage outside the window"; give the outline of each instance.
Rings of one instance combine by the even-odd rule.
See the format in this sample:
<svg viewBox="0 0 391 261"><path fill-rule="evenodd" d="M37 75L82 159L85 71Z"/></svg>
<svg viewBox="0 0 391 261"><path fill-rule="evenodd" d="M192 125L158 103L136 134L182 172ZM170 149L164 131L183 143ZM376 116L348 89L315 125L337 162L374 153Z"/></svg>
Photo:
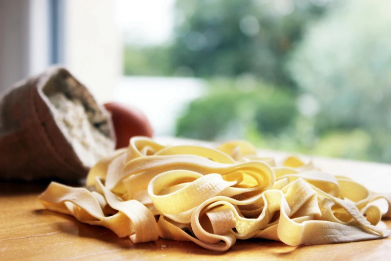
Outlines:
<svg viewBox="0 0 391 261"><path fill-rule="evenodd" d="M127 46L125 72L206 79L177 136L391 162L390 9L389 0L177 0L170 44Z"/></svg>

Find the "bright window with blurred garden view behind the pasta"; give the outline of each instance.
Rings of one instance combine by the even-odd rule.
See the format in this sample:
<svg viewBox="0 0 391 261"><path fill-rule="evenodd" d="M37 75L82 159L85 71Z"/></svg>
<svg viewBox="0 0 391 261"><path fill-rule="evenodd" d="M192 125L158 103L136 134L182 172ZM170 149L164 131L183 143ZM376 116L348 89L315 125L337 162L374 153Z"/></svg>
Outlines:
<svg viewBox="0 0 391 261"><path fill-rule="evenodd" d="M158 135L391 162L388 0L63 4L64 64Z"/></svg>

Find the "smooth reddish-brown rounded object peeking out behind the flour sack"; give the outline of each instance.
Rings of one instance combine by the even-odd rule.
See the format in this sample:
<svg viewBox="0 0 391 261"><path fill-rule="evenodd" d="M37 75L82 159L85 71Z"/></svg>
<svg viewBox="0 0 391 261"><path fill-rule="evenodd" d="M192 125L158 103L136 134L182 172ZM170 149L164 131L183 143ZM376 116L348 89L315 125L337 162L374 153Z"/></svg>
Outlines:
<svg viewBox="0 0 391 261"><path fill-rule="evenodd" d="M133 136L152 137L151 123L140 109L118 102L108 102L104 106L111 112L115 135L117 136L117 148L127 147L129 139Z"/></svg>

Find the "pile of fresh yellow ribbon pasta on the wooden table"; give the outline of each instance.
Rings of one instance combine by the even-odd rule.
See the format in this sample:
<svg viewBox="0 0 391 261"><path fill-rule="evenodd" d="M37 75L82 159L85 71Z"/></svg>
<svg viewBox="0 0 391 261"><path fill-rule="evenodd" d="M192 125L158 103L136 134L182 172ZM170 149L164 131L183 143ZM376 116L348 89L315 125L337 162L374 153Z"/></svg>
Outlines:
<svg viewBox="0 0 391 261"><path fill-rule="evenodd" d="M391 217L391 195L291 156L257 156L244 141L217 148L164 146L133 137L127 149L91 168L86 187L52 182L45 208L105 226L133 242L158 237L226 251L236 239L288 245L387 237L376 225ZM386 199L388 210L376 204Z"/></svg>

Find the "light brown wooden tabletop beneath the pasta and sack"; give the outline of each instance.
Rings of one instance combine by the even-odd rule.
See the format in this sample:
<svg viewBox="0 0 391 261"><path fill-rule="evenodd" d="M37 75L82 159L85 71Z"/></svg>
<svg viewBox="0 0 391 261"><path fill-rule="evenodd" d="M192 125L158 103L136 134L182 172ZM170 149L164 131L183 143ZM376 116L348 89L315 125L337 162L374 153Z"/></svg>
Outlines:
<svg viewBox="0 0 391 261"><path fill-rule="evenodd" d="M277 157L285 154L260 152ZM328 158L314 161L324 170L353 177L373 190L391 192L391 165ZM238 240L225 253L164 239L134 244L107 228L44 210L37 196L46 185L0 182L0 260L391 260L391 238L297 247L271 240ZM391 220L380 225L391 229Z"/></svg>

